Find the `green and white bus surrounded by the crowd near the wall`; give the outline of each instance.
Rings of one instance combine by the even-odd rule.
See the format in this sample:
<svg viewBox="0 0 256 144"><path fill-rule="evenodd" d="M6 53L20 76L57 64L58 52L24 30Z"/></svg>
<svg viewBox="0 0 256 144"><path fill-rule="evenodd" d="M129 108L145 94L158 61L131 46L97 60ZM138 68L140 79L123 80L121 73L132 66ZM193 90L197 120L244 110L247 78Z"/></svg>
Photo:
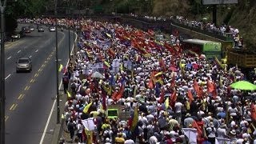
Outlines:
<svg viewBox="0 0 256 144"><path fill-rule="evenodd" d="M184 52L198 54L205 54L206 58L218 59L222 58L222 43L221 42L211 42L201 39L185 39L182 41L182 50Z"/></svg>

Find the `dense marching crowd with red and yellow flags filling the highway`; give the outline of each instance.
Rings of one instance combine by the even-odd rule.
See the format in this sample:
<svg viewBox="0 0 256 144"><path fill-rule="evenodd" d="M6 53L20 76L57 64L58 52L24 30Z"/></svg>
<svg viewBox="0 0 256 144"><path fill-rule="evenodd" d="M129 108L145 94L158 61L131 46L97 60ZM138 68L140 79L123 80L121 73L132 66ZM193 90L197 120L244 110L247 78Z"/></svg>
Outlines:
<svg viewBox="0 0 256 144"><path fill-rule="evenodd" d="M79 22L76 60L63 77L70 86L64 118L73 142L256 143L256 93L230 87L246 80L238 67L183 54L180 46L154 41L153 30ZM110 107L118 112L110 114Z"/></svg>

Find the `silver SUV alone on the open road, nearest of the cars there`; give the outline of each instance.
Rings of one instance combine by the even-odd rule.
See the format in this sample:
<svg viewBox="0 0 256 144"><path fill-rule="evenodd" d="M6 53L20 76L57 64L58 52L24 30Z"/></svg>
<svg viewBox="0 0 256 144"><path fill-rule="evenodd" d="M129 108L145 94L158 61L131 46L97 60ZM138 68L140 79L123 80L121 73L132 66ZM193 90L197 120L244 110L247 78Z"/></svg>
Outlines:
<svg viewBox="0 0 256 144"><path fill-rule="evenodd" d="M22 58L18 58L18 61L16 62L16 72L20 72L20 71L27 71L27 72L31 72L32 71L32 62L31 59L28 57L22 57Z"/></svg>

